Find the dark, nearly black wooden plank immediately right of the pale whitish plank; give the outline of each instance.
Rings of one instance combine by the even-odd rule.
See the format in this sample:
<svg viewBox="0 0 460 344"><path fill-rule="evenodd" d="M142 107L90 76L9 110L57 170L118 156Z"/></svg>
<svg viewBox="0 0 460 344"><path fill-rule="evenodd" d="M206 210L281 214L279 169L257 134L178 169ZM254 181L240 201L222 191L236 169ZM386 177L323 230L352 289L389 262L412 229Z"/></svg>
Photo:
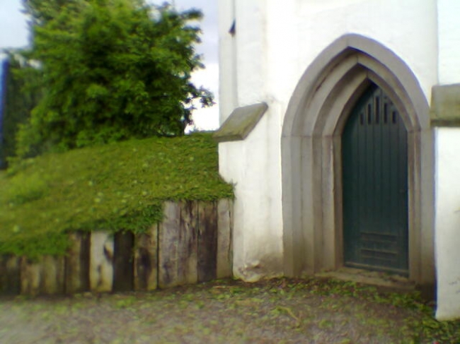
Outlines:
<svg viewBox="0 0 460 344"><path fill-rule="evenodd" d="M134 288L134 234L117 232L113 249L113 291L127 292Z"/></svg>

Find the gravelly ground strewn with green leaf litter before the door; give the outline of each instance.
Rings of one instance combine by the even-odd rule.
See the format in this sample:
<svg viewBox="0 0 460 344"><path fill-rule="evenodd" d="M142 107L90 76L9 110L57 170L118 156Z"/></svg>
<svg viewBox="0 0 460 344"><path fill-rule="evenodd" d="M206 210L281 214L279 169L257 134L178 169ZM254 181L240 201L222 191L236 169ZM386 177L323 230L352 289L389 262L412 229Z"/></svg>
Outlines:
<svg viewBox="0 0 460 344"><path fill-rule="evenodd" d="M0 299L0 343L460 343L414 295L337 280Z"/></svg>

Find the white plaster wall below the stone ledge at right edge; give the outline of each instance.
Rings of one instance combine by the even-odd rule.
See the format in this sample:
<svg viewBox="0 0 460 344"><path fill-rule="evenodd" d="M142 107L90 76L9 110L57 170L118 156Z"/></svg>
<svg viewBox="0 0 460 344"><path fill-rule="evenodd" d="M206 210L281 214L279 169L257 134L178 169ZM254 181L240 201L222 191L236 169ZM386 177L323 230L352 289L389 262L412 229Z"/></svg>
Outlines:
<svg viewBox="0 0 460 344"><path fill-rule="evenodd" d="M435 129L438 320L460 316L460 128Z"/></svg>

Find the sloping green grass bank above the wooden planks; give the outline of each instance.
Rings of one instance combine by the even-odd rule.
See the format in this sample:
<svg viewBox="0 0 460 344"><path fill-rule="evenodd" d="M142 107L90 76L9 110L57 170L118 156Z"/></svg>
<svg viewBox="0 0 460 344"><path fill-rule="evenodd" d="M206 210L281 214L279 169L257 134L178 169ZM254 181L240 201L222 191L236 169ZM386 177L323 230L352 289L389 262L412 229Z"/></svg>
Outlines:
<svg viewBox="0 0 460 344"><path fill-rule="evenodd" d="M76 230L143 232L164 201L233 198L209 134L47 154L0 174L0 254L64 254Z"/></svg>

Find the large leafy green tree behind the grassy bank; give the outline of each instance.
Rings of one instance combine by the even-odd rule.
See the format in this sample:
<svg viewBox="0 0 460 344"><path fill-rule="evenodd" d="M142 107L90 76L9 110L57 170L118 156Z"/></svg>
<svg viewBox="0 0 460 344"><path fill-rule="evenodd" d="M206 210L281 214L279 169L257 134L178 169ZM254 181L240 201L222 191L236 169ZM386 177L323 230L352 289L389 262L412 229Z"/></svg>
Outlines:
<svg viewBox="0 0 460 344"><path fill-rule="evenodd" d="M42 12L36 4L45 3L54 5ZM28 1L28 9L37 19L25 57L40 61L44 92L18 134L18 155L183 135L193 100L212 105L190 82L203 67L200 29L190 25L200 11L144 0Z"/></svg>

